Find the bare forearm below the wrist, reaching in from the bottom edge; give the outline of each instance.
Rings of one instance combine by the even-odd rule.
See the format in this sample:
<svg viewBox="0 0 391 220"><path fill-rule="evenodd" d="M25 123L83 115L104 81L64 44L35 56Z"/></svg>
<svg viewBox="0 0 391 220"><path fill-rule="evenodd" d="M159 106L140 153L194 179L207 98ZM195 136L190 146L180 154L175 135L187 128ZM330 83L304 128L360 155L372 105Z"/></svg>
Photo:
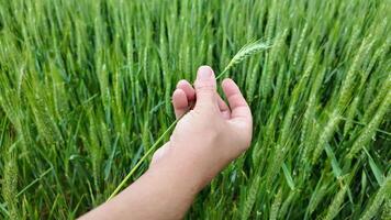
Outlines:
<svg viewBox="0 0 391 220"><path fill-rule="evenodd" d="M204 180L179 155L150 167L109 202L81 219L181 219Z"/></svg>

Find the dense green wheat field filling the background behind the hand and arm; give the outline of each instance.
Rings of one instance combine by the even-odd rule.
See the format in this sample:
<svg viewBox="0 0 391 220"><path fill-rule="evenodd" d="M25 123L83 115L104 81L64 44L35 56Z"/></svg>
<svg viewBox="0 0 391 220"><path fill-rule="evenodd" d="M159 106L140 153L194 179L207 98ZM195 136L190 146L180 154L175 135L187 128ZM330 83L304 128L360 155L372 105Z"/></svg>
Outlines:
<svg viewBox="0 0 391 220"><path fill-rule="evenodd" d="M0 218L104 201L174 122L176 82L262 38L225 75L252 147L188 218L390 219L390 14L388 0L1 0Z"/></svg>

